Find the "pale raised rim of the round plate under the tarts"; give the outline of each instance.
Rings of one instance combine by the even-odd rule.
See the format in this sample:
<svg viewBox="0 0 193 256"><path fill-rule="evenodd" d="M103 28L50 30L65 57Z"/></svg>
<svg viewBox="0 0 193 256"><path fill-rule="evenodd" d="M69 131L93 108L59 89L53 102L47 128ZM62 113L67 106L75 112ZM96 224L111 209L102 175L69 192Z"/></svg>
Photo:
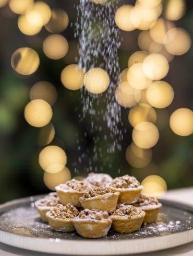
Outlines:
<svg viewBox="0 0 193 256"><path fill-rule="evenodd" d="M38 200L43 196L44 194L28 196L21 199L8 201L0 205L0 213L17 204L26 202L33 203L35 200ZM193 206L190 204L184 204L182 202L167 199L162 199L160 201L166 205L172 205L193 213ZM0 241L6 243L9 246L15 246L21 249L45 253L65 253L68 255L123 255L131 253L158 251L184 245L185 243L193 241L193 229L180 231L175 234L165 235L164 237L136 238L134 240L76 240L76 246L74 246L75 241L72 239L28 237L0 230ZM47 242L49 242L49 246L47 246ZM96 246L99 242L100 247Z"/></svg>

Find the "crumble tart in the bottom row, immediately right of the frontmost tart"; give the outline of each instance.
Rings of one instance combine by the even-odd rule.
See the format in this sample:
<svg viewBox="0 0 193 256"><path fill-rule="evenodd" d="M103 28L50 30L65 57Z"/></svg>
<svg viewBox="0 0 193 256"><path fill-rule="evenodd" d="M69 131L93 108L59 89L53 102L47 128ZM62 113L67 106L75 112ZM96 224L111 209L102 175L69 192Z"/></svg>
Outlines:
<svg viewBox="0 0 193 256"><path fill-rule="evenodd" d="M116 215L119 208L131 209L130 214ZM111 215L113 220L112 229L118 233L131 233L140 229L144 216L146 215L143 211L138 211L136 207L131 205L120 205L117 210Z"/></svg>

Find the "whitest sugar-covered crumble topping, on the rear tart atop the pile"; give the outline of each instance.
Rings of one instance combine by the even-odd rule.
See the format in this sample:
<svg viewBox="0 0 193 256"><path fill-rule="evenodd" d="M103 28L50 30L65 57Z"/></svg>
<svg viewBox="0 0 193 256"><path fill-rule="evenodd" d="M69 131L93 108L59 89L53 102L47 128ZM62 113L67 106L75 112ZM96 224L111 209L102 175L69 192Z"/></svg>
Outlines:
<svg viewBox="0 0 193 256"><path fill-rule="evenodd" d="M104 186L105 184L111 182L112 180L112 177L106 173L94 172L89 173L88 177L85 178L85 181L91 183L92 185L95 185L96 187Z"/></svg>

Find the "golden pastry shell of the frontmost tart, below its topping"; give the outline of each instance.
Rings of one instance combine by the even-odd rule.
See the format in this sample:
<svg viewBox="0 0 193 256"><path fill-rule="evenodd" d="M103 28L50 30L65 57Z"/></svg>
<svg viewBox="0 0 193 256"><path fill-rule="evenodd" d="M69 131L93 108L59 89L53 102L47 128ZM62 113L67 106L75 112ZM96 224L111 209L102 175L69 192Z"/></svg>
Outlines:
<svg viewBox="0 0 193 256"><path fill-rule="evenodd" d="M84 238L100 238L105 237L111 227L112 219L106 220L89 220L89 219L73 219L76 231Z"/></svg>

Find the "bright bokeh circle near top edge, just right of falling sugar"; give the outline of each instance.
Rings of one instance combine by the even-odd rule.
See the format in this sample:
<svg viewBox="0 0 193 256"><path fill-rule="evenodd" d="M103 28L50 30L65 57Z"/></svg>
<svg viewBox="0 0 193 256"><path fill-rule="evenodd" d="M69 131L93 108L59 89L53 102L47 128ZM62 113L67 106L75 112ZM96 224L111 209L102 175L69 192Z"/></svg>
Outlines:
<svg viewBox="0 0 193 256"><path fill-rule="evenodd" d="M124 31L132 31L135 29L130 18L133 8L132 5L123 5L116 10L115 23L119 29Z"/></svg>

